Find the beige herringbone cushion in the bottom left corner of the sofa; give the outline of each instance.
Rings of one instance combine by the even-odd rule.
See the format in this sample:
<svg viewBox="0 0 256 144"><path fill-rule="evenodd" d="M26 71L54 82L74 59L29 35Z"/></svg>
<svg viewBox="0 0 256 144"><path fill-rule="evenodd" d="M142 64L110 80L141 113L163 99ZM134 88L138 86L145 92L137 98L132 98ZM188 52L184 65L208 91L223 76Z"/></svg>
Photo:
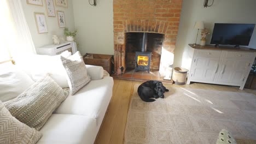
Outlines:
<svg viewBox="0 0 256 144"><path fill-rule="evenodd" d="M0 101L0 143L36 143L42 134L21 123Z"/></svg>

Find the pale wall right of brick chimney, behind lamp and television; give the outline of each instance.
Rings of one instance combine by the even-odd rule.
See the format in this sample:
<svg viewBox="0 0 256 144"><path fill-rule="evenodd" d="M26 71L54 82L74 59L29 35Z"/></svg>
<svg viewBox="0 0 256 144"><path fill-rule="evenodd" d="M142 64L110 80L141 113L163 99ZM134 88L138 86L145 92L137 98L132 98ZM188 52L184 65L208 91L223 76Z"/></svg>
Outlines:
<svg viewBox="0 0 256 144"><path fill-rule="evenodd" d="M212 0L209 0L211 4ZM203 8L203 0L183 0L181 20L177 43L174 52L175 67L190 67L191 53L188 44L195 43L197 29L194 29L196 21L203 21L205 28L212 30L214 23L256 23L255 0L215 0L212 7ZM210 44L211 34L207 35L206 44ZM197 44L200 43L201 35ZM256 28L248 47L256 49Z"/></svg>

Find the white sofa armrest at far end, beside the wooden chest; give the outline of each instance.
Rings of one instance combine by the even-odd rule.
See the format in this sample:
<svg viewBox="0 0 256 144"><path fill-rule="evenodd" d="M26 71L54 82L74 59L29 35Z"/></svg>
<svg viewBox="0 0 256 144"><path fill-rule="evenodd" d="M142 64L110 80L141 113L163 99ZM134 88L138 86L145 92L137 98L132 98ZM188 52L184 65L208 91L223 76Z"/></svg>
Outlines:
<svg viewBox="0 0 256 144"><path fill-rule="evenodd" d="M91 80L100 80L103 78L103 68L96 65L87 65L87 73L91 76Z"/></svg>

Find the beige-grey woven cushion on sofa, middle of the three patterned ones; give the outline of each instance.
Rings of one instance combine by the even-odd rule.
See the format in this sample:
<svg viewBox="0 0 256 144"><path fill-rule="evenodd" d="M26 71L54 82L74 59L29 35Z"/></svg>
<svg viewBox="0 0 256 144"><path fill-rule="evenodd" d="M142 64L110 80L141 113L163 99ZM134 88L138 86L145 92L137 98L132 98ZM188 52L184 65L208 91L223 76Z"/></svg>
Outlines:
<svg viewBox="0 0 256 144"><path fill-rule="evenodd" d="M4 105L20 122L39 130L67 95L68 92L47 75Z"/></svg>

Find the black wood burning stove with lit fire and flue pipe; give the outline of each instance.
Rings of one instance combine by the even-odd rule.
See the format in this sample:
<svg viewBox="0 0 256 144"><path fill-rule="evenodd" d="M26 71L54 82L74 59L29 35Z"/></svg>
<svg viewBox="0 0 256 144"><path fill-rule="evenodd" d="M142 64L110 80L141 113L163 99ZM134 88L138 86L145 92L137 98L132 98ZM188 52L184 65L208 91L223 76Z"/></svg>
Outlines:
<svg viewBox="0 0 256 144"><path fill-rule="evenodd" d="M152 52L147 52L148 33L143 33L141 52L136 52L135 71L150 71Z"/></svg>

